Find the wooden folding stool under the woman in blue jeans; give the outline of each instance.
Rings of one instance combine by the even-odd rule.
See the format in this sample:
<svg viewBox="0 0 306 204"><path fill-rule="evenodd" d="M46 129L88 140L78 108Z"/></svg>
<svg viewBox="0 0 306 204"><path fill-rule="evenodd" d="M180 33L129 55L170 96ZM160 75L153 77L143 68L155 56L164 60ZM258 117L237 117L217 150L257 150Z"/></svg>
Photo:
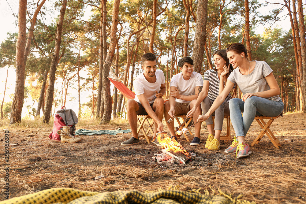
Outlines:
<svg viewBox="0 0 306 204"><path fill-rule="evenodd" d="M261 140L261 138L263 138L263 135L265 135L265 134L271 140L274 147L276 147L278 149L279 149L279 147L282 147L281 144L279 143L279 140L276 139L276 137L273 135L273 132L270 130L270 125L278 117L279 116L276 116L276 117L256 116L255 117L255 120L258 122L258 124L262 128L262 130L259 133L259 135L253 140L253 142L251 144L251 147L253 147L255 144L258 144L259 141ZM267 123L265 123L265 121L263 119L269 119L269 121Z"/></svg>

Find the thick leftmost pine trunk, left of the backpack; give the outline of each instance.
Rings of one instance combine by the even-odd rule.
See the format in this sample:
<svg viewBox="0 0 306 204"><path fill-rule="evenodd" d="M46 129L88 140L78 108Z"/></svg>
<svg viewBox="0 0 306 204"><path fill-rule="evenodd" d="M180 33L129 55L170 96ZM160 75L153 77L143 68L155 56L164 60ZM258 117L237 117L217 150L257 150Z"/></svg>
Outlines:
<svg viewBox="0 0 306 204"><path fill-rule="evenodd" d="M27 0L19 0L18 38L16 42L16 83L12 102L9 124L21 122L21 112L24 99L24 50L27 40Z"/></svg>

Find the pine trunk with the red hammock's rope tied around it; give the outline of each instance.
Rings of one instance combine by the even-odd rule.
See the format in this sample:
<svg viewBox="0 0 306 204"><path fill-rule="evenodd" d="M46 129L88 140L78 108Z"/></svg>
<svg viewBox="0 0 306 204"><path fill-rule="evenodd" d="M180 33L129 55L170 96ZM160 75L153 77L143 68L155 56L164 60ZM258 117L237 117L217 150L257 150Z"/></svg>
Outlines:
<svg viewBox="0 0 306 204"><path fill-rule="evenodd" d="M103 72L102 72L102 80L103 80L103 100L104 100L104 112L103 117L100 122L109 122L112 113L112 101L110 96L110 80L108 80L107 76L110 73L110 67L112 65L112 61L115 55L115 48L116 48L116 32L117 32L117 25L118 25L118 13L119 13L119 4L120 0L114 0L114 7L112 11L112 25L110 28L110 47L105 59L105 63L103 65Z"/></svg>

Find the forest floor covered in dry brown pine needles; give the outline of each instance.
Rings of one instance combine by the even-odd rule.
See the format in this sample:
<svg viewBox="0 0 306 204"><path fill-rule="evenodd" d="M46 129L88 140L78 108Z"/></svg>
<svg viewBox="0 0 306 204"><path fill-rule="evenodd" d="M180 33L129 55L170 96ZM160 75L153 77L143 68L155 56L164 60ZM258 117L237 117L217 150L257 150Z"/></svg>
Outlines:
<svg viewBox="0 0 306 204"><path fill-rule="evenodd" d="M140 145L121 146L131 133L82 136L79 143L63 144L49 139L51 122L45 126L9 126L10 198L54 187L96 192L132 189L144 192L177 186L183 191L220 189L234 196L241 194L242 199L256 203L306 203L305 118L304 113L279 117L271 125L271 130L282 147L275 148L265 135L259 144L251 147L253 154L243 159L224 153L232 141L221 141L219 151L205 149L208 132L203 123L200 146L189 146L184 136L178 140L188 150L196 152L196 159L186 165L155 162L152 156L161 153L161 147L148 144L144 139L140 140ZM7 126L0 126L2 155L4 128ZM77 125L79 128L129 129L129 124L121 121L86 125L83 121ZM224 123L222 133L225 130ZM250 144L260 130L254 121L246 142ZM233 128L231 134L234 134ZM4 156L0 161L0 183L4 186L4 164L7 162ZM101 178L95 180L99 175ZM0 191L3 195L2 187ZM1 196L0 200L3 199Z"/></svg>

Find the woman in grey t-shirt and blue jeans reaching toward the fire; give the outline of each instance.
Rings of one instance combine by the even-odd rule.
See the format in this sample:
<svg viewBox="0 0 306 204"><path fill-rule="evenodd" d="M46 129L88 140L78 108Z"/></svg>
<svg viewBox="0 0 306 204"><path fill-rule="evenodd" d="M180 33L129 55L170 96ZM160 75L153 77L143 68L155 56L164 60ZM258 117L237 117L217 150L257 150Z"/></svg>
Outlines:
<svg viewBox="0 0 306 204"><path fill-rule="evenodd" d="M199 116L198 121L205 121L222 104L235 83L240 88L243 97L230 100L230 118L236 133L234 141L226 153L236 153L237 158L252 154L245 143L247 134L255 116L275 117L282 113L284 104L279 98L280 89L272 73L272 69L264 61L248 61L247 50L241 43L233 43L226 49L230 64L234 71L228 77L222 93L208 112ZM235 69L238 68L238 69ZM242 114L243 113L243 116Z"/></svg>

